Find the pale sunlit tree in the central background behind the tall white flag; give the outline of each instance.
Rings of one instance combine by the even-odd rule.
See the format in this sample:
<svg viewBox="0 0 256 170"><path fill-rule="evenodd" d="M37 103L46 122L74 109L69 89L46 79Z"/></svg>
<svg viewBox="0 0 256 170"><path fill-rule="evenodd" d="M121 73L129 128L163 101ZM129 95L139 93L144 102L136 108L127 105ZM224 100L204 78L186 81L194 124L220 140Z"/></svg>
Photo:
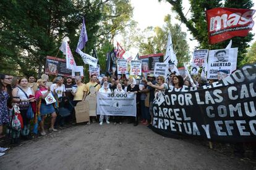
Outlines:
<svg viewBox="0 0 256 170"><path fill-rule="evenodd" d="M165 25L163 28L159 26L148 27L137 37L139 52L142 55L153 53L165 53L168 40L168 33L171 33L173 41L173 49L176 53L179 66L189 61L189 44L186 41L186 33L181 31L179 25L171 24L171 15L164 17ZM150 35L150 36L148 36Z"/></svg>

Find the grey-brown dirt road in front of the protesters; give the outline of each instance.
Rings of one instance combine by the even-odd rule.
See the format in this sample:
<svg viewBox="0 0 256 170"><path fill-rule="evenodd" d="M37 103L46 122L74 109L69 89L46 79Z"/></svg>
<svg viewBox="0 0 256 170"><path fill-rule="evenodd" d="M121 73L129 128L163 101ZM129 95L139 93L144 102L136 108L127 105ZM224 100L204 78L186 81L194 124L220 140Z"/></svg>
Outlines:
<svg viewBox="0 0 256 170"><path fill-rule="evenodd" d="M0 158L0 169L254 169L189 140L146 126L93 123L25 142Z"/></svg>

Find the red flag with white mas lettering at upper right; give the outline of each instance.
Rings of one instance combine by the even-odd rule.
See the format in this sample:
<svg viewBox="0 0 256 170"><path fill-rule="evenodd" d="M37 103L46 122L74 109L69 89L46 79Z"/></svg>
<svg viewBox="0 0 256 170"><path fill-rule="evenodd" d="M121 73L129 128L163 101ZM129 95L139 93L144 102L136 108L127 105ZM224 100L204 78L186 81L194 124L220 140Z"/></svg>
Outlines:
<svg viewBox="0 0 256 170"><path fill-rule="evenodd" d="M208 37L210 44L216 44L234 36L247 36L254 21L255 10L215 8L207 10Z"/></svg>

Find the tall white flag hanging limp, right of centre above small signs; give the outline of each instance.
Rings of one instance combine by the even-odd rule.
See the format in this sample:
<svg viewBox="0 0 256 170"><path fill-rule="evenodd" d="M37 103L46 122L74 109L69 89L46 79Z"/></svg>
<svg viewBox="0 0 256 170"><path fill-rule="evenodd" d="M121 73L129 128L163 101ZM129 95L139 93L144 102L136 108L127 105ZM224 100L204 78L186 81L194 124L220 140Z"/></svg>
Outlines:
<svg viewBox="0 0 256 170"><path fill-rule="evenodd" d="M168 34L168 41L166 44L166 52L164 55L164 63L173 62L177 66L176 54L173 51L173 42L171 40L171 33Z"/></svg>

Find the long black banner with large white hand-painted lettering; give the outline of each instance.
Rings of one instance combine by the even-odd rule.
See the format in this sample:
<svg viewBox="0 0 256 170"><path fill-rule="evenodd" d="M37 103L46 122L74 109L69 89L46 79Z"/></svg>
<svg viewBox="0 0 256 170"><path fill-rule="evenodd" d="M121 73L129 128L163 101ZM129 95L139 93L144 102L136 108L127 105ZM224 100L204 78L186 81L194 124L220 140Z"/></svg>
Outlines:
<svg viewBox="0 0 256 170"><path fill-rule="evenodd" d="M256 63L200 88L167 89L163 97L160 106L154 100L152 119L153 131L163 136L256 141Z"/></svg>

